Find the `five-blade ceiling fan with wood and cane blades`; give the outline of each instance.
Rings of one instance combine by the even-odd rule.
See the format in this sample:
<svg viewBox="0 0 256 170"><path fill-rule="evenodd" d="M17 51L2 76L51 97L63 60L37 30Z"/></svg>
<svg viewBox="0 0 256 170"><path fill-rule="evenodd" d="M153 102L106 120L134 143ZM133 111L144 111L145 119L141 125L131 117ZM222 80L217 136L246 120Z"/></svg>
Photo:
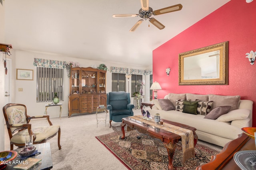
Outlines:
<svg viewBox="0 0 256 170"><path fill-rule="evenodd" d="M148 6L148 0L140 0L141 7L139 10L139 14L114 14L112 15L114 18L121 18L121 17L140 17L142 20L139 20L131 29L130 32L135 31L138 26L142 23L144 20L149 20L153 25L155 25L158 29L164 29L164 25L160 23L158 20L154 18L150 18L152 15L160 15L160 14L166 14L169 12L179 11L182 9L181 4L177 4L174 6L169 6L166 8L162 8L160 10L153 11L152 8ZM149 26L149 25L148 25Z"/></svg>

